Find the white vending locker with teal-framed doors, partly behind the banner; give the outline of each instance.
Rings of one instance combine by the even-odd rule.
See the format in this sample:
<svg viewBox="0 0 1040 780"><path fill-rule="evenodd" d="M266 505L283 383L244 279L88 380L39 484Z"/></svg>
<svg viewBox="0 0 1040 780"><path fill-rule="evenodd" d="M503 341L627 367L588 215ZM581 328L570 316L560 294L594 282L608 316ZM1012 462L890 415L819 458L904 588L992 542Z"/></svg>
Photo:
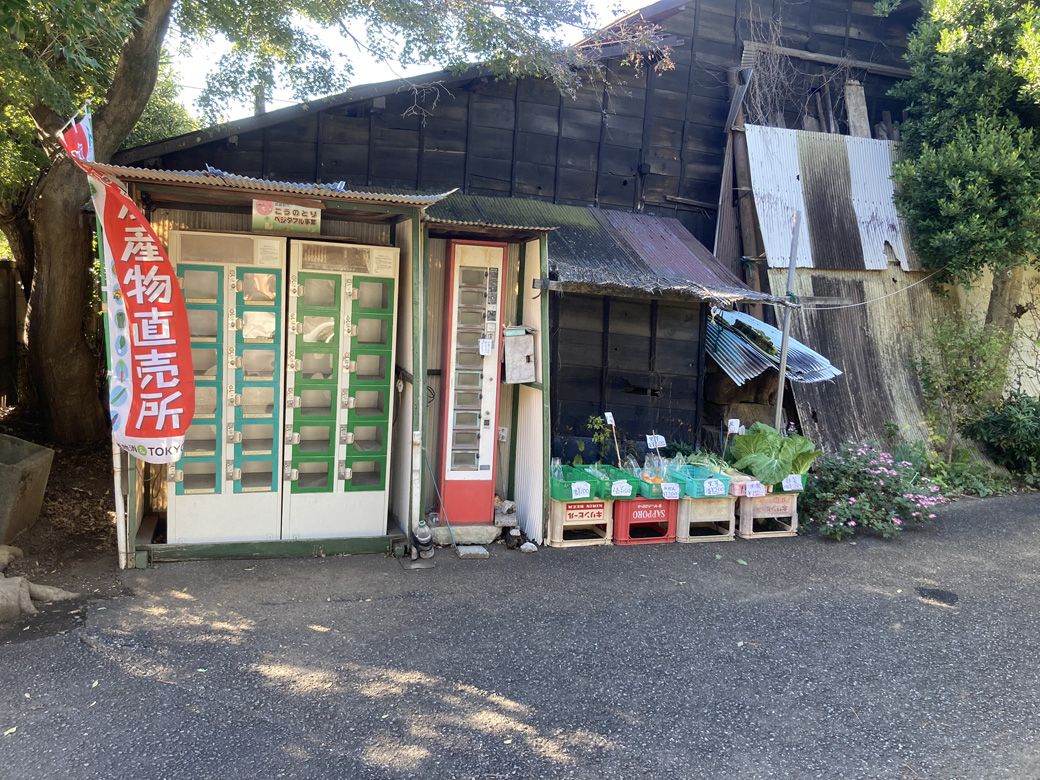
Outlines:
<svg viewBox="0 0 1040 780"><path fill-rule="evenodd" d="M171 543L281 537L285 239L174 231L196 410L168 471Z"/></svg>

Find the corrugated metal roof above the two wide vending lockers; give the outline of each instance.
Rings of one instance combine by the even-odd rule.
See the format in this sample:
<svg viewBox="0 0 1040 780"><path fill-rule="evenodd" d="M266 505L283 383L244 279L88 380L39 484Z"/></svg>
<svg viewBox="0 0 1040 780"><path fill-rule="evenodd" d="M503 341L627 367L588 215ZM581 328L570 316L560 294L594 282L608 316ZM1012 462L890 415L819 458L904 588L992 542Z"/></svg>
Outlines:
<svg viewBox="0 0 1040 780"><path fill-rule="evenodd" d="M447 192L409 192L407 190L366 189L346 186L345 182L308 184L301 182L268 181L249 176L229 174L215 167L206 171L160 171L156 168L92 163L101 173L120 179L152 184L186 184L216 189L240 190L255 193L294 194L320 198L326 201L349 203L381 203L397 206L432 206L447 198Z"/></svg>

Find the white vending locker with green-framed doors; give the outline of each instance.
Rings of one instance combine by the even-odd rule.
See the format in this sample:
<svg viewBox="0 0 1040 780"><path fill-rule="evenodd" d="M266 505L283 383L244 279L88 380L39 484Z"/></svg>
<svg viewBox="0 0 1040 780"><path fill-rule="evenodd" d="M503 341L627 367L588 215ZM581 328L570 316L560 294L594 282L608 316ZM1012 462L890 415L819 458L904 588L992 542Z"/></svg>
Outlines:
<svg viewBox="0 0 1040 780"><path fill-rule="evenodd" d="M398 250L290 244L287 539L386 532Z"/></svg>

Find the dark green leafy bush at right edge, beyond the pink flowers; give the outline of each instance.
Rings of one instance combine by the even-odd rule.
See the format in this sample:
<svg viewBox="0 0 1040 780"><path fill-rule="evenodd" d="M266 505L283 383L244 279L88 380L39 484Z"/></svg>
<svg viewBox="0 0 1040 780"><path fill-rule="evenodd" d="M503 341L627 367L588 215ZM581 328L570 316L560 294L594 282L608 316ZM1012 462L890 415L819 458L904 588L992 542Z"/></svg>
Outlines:
<svg viewBox="0 0 1040 780"><path fill-rule="evenodd" d="M979 415L965 433L1009 471L1040 482L1040 398L1012 392Z"/></svg>

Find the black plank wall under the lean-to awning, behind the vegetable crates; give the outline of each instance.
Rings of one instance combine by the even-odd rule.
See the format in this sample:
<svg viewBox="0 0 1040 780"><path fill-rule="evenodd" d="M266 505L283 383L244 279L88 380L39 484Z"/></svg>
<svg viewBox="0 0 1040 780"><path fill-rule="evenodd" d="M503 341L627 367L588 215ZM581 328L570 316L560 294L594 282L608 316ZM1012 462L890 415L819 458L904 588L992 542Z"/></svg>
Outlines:
<svg viewBox="0 0 1040 780"><path fill-rule="evenodd" d="M614 413L618 435L694 443L700 304L554 293L550 302L552 454L570 461L589 417Z"/></svg>

